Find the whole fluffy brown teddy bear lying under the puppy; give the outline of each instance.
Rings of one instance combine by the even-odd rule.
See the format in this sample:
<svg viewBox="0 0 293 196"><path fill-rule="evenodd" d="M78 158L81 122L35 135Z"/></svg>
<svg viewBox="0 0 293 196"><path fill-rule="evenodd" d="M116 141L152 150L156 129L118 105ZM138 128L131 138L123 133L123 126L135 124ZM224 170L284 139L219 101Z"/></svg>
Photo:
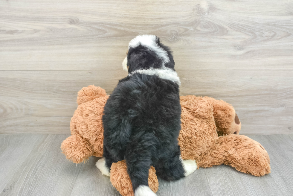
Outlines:
<svg viewBox="0 0 293 196"><path fill-rule="evenodd" d="M80 163L90 156L103 156L102 116L107 98L106 91L94 85L78 92L78 107L70 123L71 136L61 145L67 159ZM260 143L239 135L241 123L230 104L194 95L181 96L180 103L178 144L182 159L196 160L198 168L225 164L254 176L270 173L267 151ZM134 195L124 160L112 164L110 180L121 195ZM149 187L154 192L158 190L158 179L152 166Z"/></svg>

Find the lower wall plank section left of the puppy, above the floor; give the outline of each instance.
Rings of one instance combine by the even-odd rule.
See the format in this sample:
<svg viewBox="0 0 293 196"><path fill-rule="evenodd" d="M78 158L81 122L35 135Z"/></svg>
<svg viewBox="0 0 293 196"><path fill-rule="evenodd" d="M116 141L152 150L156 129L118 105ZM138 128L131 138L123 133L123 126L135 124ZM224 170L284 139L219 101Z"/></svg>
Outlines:
<svg viewBox="0 0 293 196"><path fill-rule="evenodd" d="M0 73L0 133L70 133L77 92L96 84L112 92L125 71ZM94 82L95 81L95 82Z"/></svg>

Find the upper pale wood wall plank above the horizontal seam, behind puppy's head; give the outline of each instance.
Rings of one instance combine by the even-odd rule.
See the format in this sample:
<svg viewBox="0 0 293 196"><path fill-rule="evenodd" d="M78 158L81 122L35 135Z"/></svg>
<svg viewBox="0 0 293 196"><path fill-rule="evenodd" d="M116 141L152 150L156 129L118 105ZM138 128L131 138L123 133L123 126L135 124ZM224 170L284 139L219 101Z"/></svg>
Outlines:
<svg viewBox="0 0 293 196"><path fill-rule="evenodd" d="M293 0L0 1L0 70L120 70L156 34L178 70L293 70Z"/></svg>

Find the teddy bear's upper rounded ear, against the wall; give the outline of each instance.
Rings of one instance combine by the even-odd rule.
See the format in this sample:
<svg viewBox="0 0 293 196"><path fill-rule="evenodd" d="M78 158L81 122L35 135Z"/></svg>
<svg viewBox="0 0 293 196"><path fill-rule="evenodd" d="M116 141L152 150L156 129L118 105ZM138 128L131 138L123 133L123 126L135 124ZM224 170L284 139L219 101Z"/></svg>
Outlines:
<svg viewBox="0 0 293 196"><path fill-rule="evenodd" d="M101 96L107 96L105 89L99 86L90 85L87 87L83 87L77 93L76 102L78 105L80 105L82 103L86 103L88 101L94 100L95 98L99 98Z"/></svg>

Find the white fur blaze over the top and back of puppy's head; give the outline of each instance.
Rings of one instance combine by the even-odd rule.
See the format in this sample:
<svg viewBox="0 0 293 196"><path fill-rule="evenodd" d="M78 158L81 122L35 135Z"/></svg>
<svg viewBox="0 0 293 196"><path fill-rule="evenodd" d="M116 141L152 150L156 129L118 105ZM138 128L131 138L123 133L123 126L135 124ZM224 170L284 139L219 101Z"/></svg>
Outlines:
<svg viewBox="0 0 293 196"><path fill-rule="evenodd" d="M168 57L167 51L158 46L156 40L157 36L155 35L139 35L129 42L128 49L135 48L139 45L145 46L149 50L154 51L157 54L158 58L163 60L164 64L169 63L170 59Z"/></svg>

